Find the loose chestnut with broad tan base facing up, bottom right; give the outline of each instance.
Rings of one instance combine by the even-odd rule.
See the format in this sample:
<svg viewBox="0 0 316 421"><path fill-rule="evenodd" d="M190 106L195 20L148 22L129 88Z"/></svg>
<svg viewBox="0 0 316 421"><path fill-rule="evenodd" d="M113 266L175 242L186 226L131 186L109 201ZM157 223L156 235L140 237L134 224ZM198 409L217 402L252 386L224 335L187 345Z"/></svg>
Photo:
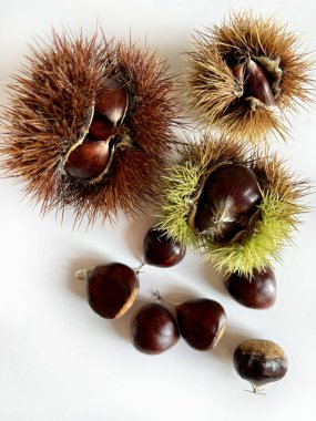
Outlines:
<svg viewBox="0 0 316 421"><path fill-rule="evenodd" d="M275 342L264 339L248 339L237 346L233 357L237 373L253 386L257 393L262 387L282 379L287 371L287 358Z"/></svg>

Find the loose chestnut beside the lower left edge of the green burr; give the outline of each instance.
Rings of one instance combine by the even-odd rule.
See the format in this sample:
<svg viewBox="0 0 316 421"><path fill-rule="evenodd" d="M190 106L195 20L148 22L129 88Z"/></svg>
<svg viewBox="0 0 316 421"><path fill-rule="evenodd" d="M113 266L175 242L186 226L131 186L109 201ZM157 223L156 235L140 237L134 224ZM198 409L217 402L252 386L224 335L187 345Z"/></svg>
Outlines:
<svg viewBox="0 0 316 421"><path fill-rule="evenodd" d="M164 232L151 228L144 238L143 254L147 265L171 267L183 259L185 247L173 242Z"/></svg>

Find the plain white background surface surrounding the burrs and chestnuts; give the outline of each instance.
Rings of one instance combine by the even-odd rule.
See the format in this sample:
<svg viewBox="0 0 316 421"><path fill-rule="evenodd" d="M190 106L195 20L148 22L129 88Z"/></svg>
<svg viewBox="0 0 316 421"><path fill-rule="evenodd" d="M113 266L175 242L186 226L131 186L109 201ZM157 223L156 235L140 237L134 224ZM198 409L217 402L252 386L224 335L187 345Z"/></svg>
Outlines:
<svg viewBox="0 0 316 421"><path fill-rule="evenodd" d="M302 33L305 50L316 47L316 9L312 1L0 1L0 80L8 83L33 35L61 24L92 33L99 22L108 37L129 38L157 49L172 71L185 71L181 52L193 29L220 23L232 9L253 7L288 21ZM1 83L1 104L6 103ZM293 140L273 147L304 178L316 181L316 107L293 121ZM132 312L109 321L86 304L81 267L122 261L137 267L142 239L152 220L120 217L111 227L72 229L22 199L21 186L0 182L0 418L2 421L128 420L306 420L316 411L316 214L313 210L276 266L277 301L265 311L246 309L225 292L218 277L191 254L171 269L147 268L141 294L153 288L171 299L217 299L227 312L227 329L216 350L198 352L182 340L150 357L129 341ZM136 307L140 304L136 305ZM284 347L289 370L266 387L266 396L232 366L234 348L247 338L266 338Z"/></svg>

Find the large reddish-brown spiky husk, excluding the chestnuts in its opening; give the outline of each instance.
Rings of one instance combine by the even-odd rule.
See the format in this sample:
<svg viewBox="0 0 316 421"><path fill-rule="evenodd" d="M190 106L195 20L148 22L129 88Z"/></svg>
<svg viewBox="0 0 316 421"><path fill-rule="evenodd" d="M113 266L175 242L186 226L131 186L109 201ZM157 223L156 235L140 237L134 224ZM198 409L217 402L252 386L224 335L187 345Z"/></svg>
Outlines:
<svg viewBox="0 0 316 421"><path fill-rule="evenodd" d="M75 220L86 215L89 223L99 214L113 219L119 208L135 215L154 201L174 141L174 79L166 72L154 52L131 42L53 32L49 42L31 49L9 85L0 144L6 175L24 183L43 214L71 207ZM113 76L132 91L124 125L136 146L115 152L109 178L80 183L62 172L62 157L77 142L102 82Z"/></svg>

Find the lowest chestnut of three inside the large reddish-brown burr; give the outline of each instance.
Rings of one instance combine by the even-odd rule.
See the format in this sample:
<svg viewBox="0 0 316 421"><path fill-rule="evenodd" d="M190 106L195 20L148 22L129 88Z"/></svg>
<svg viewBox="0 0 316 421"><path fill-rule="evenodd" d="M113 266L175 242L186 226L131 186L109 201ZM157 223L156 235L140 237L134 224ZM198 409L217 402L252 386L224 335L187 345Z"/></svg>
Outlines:
<svg viewBox="0 0 316 421"><path fill-rule="evenodd" d="M64 170L79 179L93 179L104 173L111 162L110 138L93 142L88 137L68 155Z"/></svg>

